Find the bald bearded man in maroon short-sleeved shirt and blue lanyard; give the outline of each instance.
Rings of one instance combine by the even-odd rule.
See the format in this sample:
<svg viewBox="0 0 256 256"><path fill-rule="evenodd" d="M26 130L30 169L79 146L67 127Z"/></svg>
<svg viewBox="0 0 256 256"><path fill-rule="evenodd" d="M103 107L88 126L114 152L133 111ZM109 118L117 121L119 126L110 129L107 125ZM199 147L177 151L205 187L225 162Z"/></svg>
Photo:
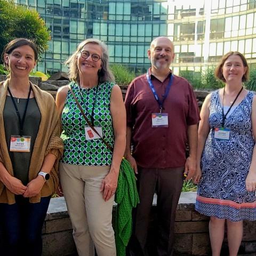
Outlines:
<svg viewBox="0 0 256 256"><path fill-rule="evenodd" d="M186 79L173 75L169 68L174 58L170 39L154 39L148 58L151 68L132 81L125 98L125 156L138 174L140 196L130 255L149 255L146 243L156 191L157 244L156 252L151 255L170 256L183 175L186 180L191 179L196 169L199 111L191 85ZM189 156L186 159L187 141Z"/></svg>

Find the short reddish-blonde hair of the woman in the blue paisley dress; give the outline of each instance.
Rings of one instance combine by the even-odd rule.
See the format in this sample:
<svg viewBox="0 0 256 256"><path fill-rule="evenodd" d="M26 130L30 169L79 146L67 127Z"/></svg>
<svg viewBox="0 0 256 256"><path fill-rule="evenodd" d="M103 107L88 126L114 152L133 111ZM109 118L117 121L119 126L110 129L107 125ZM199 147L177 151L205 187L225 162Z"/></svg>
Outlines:
<svg viewBox="0 0 256 256"><path fill-rule="evenodd" d="M220 60L220 63L218 64L217 68L215 68L214 71L214 76L218 79L220 79L220 81L226 82L226 79L223 77L223 73L222 73L222 67L225 63L225 61L228 59L229 56L231 55L238 55L242 62L244 67L246 67L246 71L242 77L242 82L246 82L249 79L249 66L247 64L246 59L244 58L244 55L241 52L228 52L226 53Z"/></svg>

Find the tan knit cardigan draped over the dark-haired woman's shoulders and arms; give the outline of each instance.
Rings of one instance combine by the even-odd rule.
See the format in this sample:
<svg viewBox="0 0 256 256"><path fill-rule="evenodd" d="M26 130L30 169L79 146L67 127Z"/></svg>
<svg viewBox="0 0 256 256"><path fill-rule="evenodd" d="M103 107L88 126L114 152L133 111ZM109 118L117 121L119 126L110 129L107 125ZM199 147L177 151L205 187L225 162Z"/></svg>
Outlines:
<svg viewBox="0 0 256 256"><path fill-rule="evenodd" d="M0 83L0 161L4 164L6 170L13 175L12 162L7 149L4 131L3 110L7 94L7 85L9 79ZM59 184L58 165L63 153L63 142L60 139L60 122L59 115L51 94L42 91L38 86L30 83L35 95L35 99L41 113L41 123L35 140L33 153L29 166L29 181L37 177L41 170L44 157L51 153L57 157L52 170L51 178L47 180L41 190L41 194L30 197L30 203L38 203L41 197L50 196L54 193ZM15 196L0 181L0 203L15 203Z"/></svg>

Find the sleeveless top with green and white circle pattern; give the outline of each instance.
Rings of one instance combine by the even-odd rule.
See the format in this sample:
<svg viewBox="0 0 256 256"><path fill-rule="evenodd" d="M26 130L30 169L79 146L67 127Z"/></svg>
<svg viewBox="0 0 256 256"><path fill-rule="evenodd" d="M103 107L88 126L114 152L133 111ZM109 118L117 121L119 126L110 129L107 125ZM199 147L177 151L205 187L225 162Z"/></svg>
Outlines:
<svg viewBox="0 0 256 256"><path fill-rule="evenodd" d="M81 89L75 82L71 89L82 106L86 117L91 121L92 110L94 126L102 127L105 141L114 146L114 131L110 113L110 97L114 83L105 82L97 87ZM76 165L111 165L112 153L101 139L86 140L84 127L87 125L81 111L69 91L61 115L61 138L64 142L62 163Z"/></svg>

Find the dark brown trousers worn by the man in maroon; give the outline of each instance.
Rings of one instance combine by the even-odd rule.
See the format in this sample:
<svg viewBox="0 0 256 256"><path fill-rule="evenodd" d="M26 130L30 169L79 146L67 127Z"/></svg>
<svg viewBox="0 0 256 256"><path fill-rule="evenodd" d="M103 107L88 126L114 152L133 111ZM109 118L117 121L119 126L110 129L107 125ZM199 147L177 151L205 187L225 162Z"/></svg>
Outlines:
<svg viewBox="0 0 256 256"><path fill-rule="evenodd" d="M175 210L183 184L183 167L143 169L139 167L140 204L135 210L133 236L128 253L136 256L171 256L173 254ZM154 193L157 194L156 254L147 251L147 238Z"/></svg>

